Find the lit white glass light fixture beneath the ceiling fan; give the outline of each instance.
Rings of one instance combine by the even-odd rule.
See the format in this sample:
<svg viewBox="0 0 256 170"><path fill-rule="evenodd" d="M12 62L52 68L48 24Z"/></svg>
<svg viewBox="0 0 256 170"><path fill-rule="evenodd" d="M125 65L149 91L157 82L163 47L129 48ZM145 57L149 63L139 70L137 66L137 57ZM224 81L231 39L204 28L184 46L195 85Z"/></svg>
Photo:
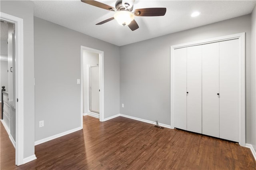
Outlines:
<svg viewBox="0 0 256 170"><path fill-rule="evenodd" d="M115 20L122 26L129 25L134 20L134 14L129 11L118 11L114 15Z"/></svg>

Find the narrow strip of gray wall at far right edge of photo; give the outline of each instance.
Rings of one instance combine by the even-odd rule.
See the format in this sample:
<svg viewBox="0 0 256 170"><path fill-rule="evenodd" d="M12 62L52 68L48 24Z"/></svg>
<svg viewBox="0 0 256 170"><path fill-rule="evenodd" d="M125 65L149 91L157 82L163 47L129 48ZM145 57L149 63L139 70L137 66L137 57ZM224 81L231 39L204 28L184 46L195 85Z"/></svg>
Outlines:
<svg viewBox="0 0 256 170"><path fill-rule="evenodd" d="M251 142L256 149L256 6L251 14Z"/></svg>

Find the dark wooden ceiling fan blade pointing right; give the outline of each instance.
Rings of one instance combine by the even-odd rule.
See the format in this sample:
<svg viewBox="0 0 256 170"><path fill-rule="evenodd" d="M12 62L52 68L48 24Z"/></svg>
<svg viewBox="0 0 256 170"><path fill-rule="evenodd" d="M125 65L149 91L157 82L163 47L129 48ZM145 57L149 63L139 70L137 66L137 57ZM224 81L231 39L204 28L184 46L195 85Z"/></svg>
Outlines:
<svg viewBox="0 0 256 170"><path fill-rule="evenodd" d="M142 8L134 10L135 16L164 16L166 8Z"/></svg>

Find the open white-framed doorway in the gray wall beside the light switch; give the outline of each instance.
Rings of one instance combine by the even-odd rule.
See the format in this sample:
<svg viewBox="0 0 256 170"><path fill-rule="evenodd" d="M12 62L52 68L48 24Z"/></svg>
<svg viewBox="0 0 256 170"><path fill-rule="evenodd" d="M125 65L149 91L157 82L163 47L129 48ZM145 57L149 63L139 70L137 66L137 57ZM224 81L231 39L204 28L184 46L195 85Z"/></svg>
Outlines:
<svg viewBox="0 0 256 170"><path fill-rule="evenodd" d="M103 51L81 46L81 113L100 121L104 121L103 54Z"/></svg>

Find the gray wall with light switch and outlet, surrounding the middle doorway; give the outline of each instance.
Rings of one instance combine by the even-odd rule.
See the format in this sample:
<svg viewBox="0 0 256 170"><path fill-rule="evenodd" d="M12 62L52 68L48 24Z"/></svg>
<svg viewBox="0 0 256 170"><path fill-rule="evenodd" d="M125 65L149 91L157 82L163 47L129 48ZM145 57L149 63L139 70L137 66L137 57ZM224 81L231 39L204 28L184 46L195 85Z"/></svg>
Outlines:
<svg viewBox="0 0 256 170"><path fill-rule="evenodd" d="M104 118L119 113L119 47L34 17L36 141L80 127L81 45L104 51Z"/></svg>

